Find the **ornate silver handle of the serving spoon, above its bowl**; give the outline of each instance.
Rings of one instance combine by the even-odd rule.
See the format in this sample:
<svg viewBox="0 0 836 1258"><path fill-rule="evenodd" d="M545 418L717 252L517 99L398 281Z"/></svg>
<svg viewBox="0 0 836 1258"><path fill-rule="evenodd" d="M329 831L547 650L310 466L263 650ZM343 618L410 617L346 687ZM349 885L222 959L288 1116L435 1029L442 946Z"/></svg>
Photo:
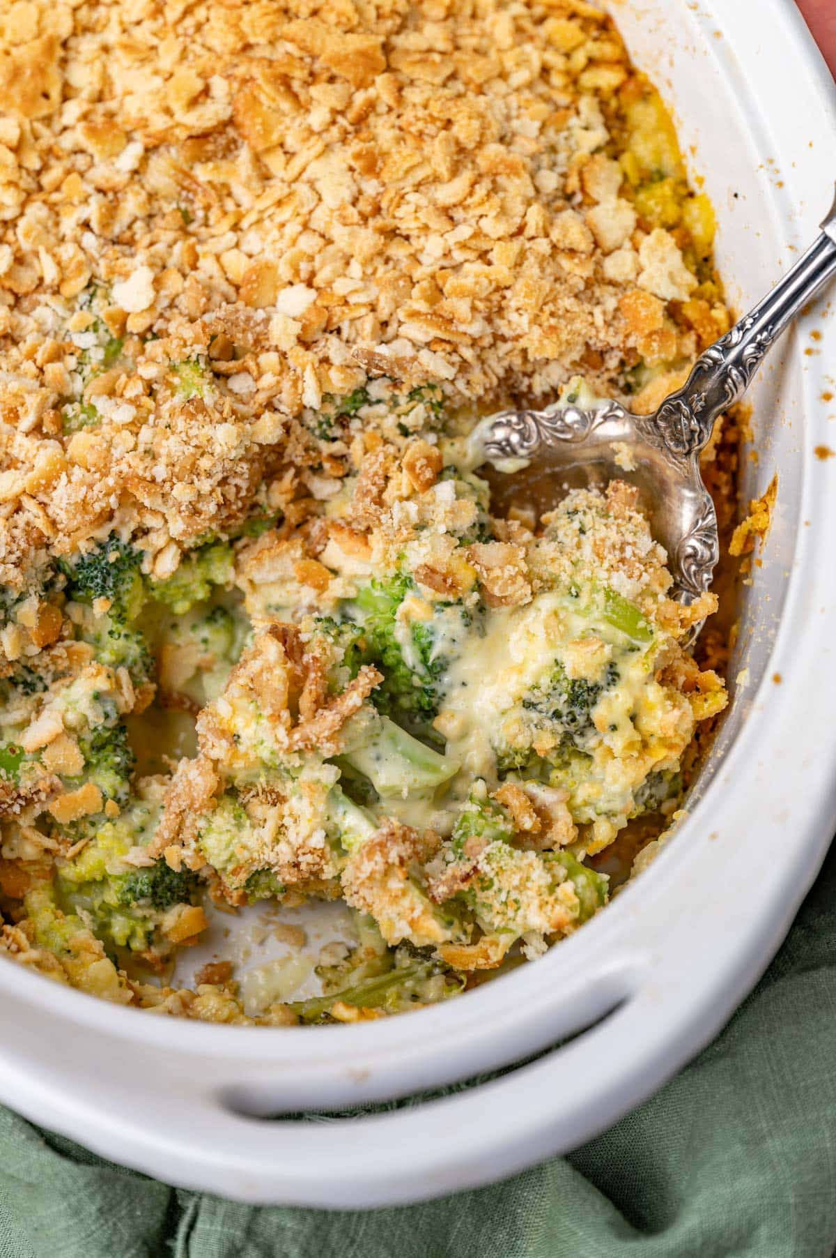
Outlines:
<svg viewBox="0 0 836 1258"><path fill-rule="evenodd" d="M675 394L655 415L655 424L679 457L698 454L719 415L743 396L768 350L803 306L836 273L836 201L822 234L754 309L712 345Z"/></svg>

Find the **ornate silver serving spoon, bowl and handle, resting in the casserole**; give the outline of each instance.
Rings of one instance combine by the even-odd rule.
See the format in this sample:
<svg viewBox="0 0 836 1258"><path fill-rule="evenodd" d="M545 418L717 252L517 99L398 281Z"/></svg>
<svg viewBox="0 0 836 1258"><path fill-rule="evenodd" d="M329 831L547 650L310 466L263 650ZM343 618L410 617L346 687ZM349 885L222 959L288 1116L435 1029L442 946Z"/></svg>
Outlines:
<svg viewBox="0 0 836 1258"><path fill-rule="evenodd" d="M508 473L536 463L538 477L549 479L556 470L588 473L591 465L602 479L625 479L625 468L630 469L626 479L641 489L654 536L668 551L671 594L693 603L710 586L719 559L717 515L703 484L700 450L719 415L740 400L767 351L836 273L836 200L821 228L792 270L700 355L683 387L655 414L632 415L613 400L595 410L563 403L543 410L504 410L479 424L485 458Z"/></svg>

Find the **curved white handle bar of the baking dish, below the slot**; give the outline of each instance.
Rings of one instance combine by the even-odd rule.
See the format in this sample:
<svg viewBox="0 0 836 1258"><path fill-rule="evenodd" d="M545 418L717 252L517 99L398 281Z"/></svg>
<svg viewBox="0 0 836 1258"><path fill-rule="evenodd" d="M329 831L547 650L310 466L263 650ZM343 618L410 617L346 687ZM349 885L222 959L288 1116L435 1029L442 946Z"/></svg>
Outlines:
<svg viewBox="0 0 836 1258"><path fill-rule="evenodd" d="M654 1091L681 1059L665 1037L654 1043L657 1000L646 981L533 1060L376 1112L254 1117L241 1112L234 1089L201 1084L196 1071L191 1089L166 1088L157 1106L147 1087L108 1105L101 1089L83 1084L64 1093L47 1125L148 1175L244 1201L356 1209L441 1196L567 1152ZM43 1122L30 1094L38 1083L21 1069L14 1103ZM261 1099L264 1111L267 1089Z"/></svg>

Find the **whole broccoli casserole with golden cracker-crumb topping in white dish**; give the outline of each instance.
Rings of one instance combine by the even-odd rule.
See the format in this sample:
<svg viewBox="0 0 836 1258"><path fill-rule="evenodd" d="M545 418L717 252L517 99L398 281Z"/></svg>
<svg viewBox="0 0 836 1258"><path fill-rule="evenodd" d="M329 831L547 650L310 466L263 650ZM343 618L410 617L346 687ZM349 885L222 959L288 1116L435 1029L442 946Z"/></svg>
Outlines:
<svg viewBox="0 0 836 1258"><path fill-rule="evenodd" d="M0 48L0 946L261 1024L539 956L725 704L635 489L498 513L473 438L728 328L659 94L582 0L18 0ZM321 995L171 981L305 899Z"/></svg>

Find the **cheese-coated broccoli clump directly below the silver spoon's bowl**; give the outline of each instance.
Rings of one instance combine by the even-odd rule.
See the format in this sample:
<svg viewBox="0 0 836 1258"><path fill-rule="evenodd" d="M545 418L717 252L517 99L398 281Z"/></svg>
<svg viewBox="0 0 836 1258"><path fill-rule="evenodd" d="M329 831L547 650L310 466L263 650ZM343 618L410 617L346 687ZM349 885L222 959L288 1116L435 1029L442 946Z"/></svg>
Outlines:
<svg viewBox="0 0 836 1258"><path fill-rule="evenodd" d="M556 527L566 530L562 546L573 536L583 545L582 518ZM446 755L470 759L490 782L563 790L571 823L592 828L597 850L660 806L659 789L645 784L676 779L694 713L657 677L670 637L625 595L576 575L575 560L556 580L562 548L542 545L549 567L534 555L539 589L485 611L481 638L471 637L445 674L436 728L449 733Z"/></svg>

